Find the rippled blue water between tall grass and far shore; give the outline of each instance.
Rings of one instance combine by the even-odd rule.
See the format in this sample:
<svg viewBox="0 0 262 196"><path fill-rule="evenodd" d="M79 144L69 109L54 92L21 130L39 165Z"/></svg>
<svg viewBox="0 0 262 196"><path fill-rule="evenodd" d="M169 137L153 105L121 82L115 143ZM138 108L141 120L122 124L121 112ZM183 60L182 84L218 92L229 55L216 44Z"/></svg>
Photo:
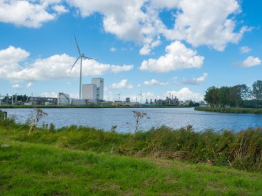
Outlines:
<svg viewBox="0 0 262 196"><path fill-rule="evenodd" d="M8 116L16 116L18 122L26 122L33 109L3 109ZM119 132L134 131L134 116L132 111L145 111L150 120L143 122L141 129L148 130L151 127L165 125L172 128L186 127L191 124L195 131L205 129L230 129L240 131L248 127L262 127L262 115L239 114L239 113L212 113L194 111L193 108L65 108L43 109L48 116L41 122L54 123L55 126L63 127L71 124L96 127L110 130L117 125ZM41 122L39 124L41 125Z"/></svg>

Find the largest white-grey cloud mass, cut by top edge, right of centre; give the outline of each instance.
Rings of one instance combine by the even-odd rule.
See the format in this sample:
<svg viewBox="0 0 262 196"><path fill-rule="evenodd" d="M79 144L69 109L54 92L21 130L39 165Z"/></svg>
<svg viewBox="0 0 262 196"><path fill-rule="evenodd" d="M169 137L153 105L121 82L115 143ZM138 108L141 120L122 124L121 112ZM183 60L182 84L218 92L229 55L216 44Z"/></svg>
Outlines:
<svg viewBox="0 0 262 196"><path fill-rule="evenodd" d="M82 17L94 12L103 15L105 32L119 39L143 45L140 54L150 54L160 44L160 36L172 41L181 40L194 47L208 45L223 51L228 43L238 43L244 32L236 31L235 16L241 13L237 0L68 0L79 9ZM159 17L163 10L174 11L174 28L168 29Z"/></svg>

